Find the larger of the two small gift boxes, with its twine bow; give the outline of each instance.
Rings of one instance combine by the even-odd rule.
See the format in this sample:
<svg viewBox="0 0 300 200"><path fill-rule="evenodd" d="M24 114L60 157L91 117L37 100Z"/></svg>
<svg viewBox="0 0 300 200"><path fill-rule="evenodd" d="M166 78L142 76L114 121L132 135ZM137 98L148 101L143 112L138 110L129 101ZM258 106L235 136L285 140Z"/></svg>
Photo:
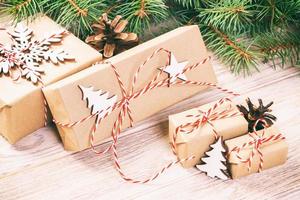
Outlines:
<svg viewBox="0 0 300 200"><path fill-rule="evenodd" d="M169 138L185 168L200 163L217 137L226 140L247 130L248 123L236 105L224 99L169 116Z"/></svg>

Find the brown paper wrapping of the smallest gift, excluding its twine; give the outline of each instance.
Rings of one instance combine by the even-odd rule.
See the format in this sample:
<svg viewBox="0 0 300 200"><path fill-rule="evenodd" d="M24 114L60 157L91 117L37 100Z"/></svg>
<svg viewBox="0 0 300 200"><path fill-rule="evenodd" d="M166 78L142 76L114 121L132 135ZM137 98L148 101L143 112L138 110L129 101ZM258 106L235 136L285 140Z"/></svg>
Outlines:
<svg viewBox="0 0 300 200"><path fill-rule="evenodd" d="M258 131L258 134L261 134L263 130ZM272 126L265 130L264 137L268 137L271 135L279 134L279 130ZM230 152L235 146L242 146L246 142L252 141L253 138L251 136L243 135L237 138L233 138L231 140L225 141L225 145L228 148L228 152ZM244 150L241 150L239 155L242 158L247 159L252 151L253 147L248 147ZM263 170L281 165L286 162L287 154L288 154L288 145L286 140L277 140L277 141L269 141L263 143L261 145L261 152L263 154ZM241 163L240 160L236 157L236 152L232 152L228 158L229 170L233 179L240 178L242 176L247 176L252 173L258 172L259 169L259 156L258 153L255 152L255 156L253 157L250 171L248 171L248 163Z"/></svg>

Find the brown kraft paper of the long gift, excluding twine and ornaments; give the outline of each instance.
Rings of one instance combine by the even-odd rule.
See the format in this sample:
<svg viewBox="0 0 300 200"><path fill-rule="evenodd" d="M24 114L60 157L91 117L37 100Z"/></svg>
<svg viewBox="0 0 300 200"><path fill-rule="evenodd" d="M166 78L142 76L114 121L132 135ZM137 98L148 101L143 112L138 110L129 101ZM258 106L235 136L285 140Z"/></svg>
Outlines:
<svg viewBox="0 0 300 200"><path fill-rule="evenodd" d="M138 67L156 50L164 48L171 51L178 62L188 61L187 66L201 62L208 58L200 31L197 26L186 26L145 42L107 60L116 66L124 88L129 91L134 74ZM146 86L161 68L166 66L168 54L160 52L148 60L140 71L135 91ZM216 83L212 66L205 62L199 67L185 73L188 80ZM168 78L162 73L161 78ZM158 80L158 81L159 81ZM54 119L61 123L72 123L91 114L87 102L82 98L78 86L90 87L95 90L116 95L117 101L122 98L121 89L110 64L98 64L76 75L68 77L44 89ZM141 121L154 113L184 100L206 86L170 86L151 90L144 95L130 101L131 114L134 122ZM106 93L107 94L107 93ZM111 136L111 129L120 109L116 109L102 120L95 133L95 143L100 143ZM95 117L73 127L58 126L62 141L67 150L82 150L90 147L89 134L95 123ZM123 123L123 129L130 125L128 117Z"/></svg>

